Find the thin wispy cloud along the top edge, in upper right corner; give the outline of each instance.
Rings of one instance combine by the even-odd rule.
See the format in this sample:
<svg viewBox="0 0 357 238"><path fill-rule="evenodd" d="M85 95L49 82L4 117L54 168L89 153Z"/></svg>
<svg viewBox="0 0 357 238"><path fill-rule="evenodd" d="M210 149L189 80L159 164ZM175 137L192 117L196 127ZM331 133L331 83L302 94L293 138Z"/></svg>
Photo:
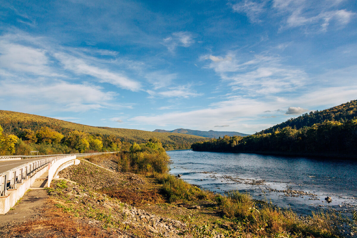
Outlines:
<svg viewBox="0 0 357 238"><path fill-rule="evenodd" d="M233 11L243 12L253 23L262 22L265 18L277 18L281 29L306 26L307 28L327 31L331 24L344 26L348 24L355 12L338 9L341 1L308 1L308 0L245 0L232 4Z"/></svg>

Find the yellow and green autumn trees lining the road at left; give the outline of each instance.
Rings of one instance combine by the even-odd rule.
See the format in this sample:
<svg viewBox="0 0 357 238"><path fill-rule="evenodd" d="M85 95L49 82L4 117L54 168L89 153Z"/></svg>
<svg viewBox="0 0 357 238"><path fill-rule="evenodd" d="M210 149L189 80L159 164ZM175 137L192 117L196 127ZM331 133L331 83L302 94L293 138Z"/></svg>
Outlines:
<svg viewBox="0 0 357 238"><path fill-rule="evenodd" d="M93 135L70 131L66 135L49 127L38 130L21 129L17 135L5 134L0 126L0 155L40 155L129 150L130 143L121 142L113 135Z"/></svg>

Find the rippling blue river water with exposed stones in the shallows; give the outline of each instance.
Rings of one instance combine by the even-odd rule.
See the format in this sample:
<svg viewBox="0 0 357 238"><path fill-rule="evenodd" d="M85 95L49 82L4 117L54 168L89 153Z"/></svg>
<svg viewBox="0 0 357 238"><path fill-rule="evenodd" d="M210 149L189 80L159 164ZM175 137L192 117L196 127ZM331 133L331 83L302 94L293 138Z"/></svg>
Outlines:
<svg viewBox="0 0 357 238"><path fill-rule="evenodd" d="M248 153L167 151L171 174L217 193L248 192L308 215L320 209L357 211L357 161ZM332 202L325 201L325 197Z"/></svg>

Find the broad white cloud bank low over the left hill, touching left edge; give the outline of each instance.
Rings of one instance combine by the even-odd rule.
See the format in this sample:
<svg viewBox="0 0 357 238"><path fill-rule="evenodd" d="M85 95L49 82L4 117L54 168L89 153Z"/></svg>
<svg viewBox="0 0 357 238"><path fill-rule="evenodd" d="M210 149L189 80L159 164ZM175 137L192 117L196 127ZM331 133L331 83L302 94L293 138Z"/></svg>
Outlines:
<svg viewBox="0 0 357 238"><path fill-rule="evenodd" d="M21 87L18 85L21 84ZM122 108L114 105L114 92L104 92L101 87L88 84L57 81L38 83L36 80L0 81L1 97L6 104L2 108L28 111L30 109L48 111L84 112L105 107ZM17 109L18 108L18 109Z"/></svg>

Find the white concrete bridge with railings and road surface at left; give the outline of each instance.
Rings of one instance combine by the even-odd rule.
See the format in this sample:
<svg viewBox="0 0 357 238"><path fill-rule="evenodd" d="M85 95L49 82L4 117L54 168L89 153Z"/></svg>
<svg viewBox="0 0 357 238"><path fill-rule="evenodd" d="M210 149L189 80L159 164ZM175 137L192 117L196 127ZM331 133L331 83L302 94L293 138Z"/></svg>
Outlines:
<svg viewBox="0 0 357 238"><path fill-rule="evenodd" d="M77 157L98 154L102 153L0 157L0 214L7 213L28 189L50 187L58 172L80 163Z"/></svg>

